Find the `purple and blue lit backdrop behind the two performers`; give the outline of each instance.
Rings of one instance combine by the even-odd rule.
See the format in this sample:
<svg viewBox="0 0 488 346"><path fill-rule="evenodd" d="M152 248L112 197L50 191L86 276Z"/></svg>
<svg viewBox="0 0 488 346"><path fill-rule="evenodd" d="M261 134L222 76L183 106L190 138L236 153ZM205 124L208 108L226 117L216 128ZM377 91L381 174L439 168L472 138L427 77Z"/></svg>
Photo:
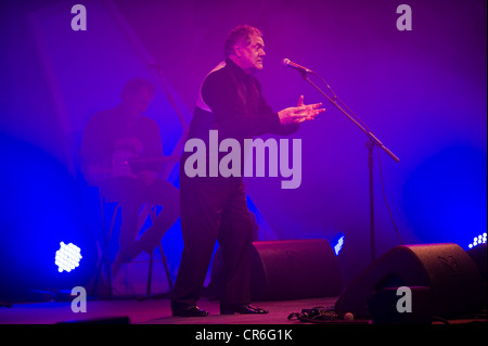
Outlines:
<svg viewBox="0 0 488 346"><path fill-rule="evenodd" d="M90 112L116 103L128 69L151 76L140 54L129 56L136 48L123 42L127 33L114 29L113 16L102 15L103 9L115 9L133 34L129 41L141 43L162 66L187 123L202 79L223 59L226 34L251 24L264 31L267 57L257 77L269 103L279 111L304 94L306 102L323 102L328 110L293 136L303 141L299 189L282 190L280 179L247 179L248 195L277 239L332 240L343 232L346 279L370 258L367 138L298 73L284 68L284 57L322 76L400 158L395 163L374 152L377 255L399 244L383 198L380 158L386 198L404 243L465 247L486 232L486 1L142 0L105 1L113 7L103 9L94 1L78 2L87 7L87 31L69 27L69 10L77 2L2 2L2 132L69 166L67 134L82 130ZM412 30L397 29L401 3L412 9ZM38 26L33 26L33 13ZM68 59L62 55L67 50ZM111 60L113 69L97 65ZM70 72L85 78L69 79ZM53 79L60 88L54 92ZM164 92L157 102L151 115L167 125L162 133L165 149L171 149L180 124ZM165 246L177 268L181 241L174 233Z"/></svg>

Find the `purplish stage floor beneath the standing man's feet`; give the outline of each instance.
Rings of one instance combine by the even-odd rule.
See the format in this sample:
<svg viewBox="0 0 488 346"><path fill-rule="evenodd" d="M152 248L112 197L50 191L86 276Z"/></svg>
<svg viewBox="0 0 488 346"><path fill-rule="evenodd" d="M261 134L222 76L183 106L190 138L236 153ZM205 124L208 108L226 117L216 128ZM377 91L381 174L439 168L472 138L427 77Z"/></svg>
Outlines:
<svg viewBox="0 0 488 346"><path fill-rule="evenodd" d="M221 316L219 302L202 298L198 306L209 312L205 318L177 318L171 316L167 298L88 299L87 312L73 312L69 302L13 304L0 308L0 324L55 324L60 322L87 321L126 317L131 324L303 324L288 320L292 312L301 312L317 306L329 307L336 298L312 298L282 302L257 302L267 308L267 315Z"/></svg>

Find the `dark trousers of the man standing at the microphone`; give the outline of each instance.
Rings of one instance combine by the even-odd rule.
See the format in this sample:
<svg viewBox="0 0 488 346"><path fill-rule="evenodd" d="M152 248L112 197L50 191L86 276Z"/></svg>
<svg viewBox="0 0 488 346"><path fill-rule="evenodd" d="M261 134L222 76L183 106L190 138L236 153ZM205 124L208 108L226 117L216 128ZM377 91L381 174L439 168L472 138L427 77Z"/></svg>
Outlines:
<svg viewBox="0 0 488 346"><path fill-rule="evenodd" d="M172 299L196 304L218 241L221 303L249 304L253 225L242 178L188 178L181 171L180 202L184 248Z"/></svg>

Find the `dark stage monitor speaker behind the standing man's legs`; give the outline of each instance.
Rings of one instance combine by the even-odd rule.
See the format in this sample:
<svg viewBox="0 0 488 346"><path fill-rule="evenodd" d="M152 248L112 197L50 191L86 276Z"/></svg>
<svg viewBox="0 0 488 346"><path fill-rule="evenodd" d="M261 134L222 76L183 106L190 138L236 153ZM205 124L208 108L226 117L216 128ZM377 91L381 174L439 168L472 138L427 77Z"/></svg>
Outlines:
<svg viewBox="0 0 488 346"><path fill-rule="evenodd" d="M338 296L343 280L338 259L326 240L253 243L251 296L253 300L286 300ZM210 295L222 286L221 256L211 265Z"/></svg>

